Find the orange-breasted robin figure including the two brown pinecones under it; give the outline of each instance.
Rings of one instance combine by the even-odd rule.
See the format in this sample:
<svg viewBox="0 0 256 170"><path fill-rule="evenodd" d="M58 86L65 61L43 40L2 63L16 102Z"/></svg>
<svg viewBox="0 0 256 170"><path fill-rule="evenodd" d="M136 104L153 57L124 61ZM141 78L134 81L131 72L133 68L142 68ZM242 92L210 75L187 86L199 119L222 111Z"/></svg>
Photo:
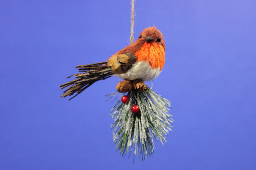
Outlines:
<svg viewBox="0 0 256 170"><path fill-rule="evenodd" d="M61 97L71 96L75 92L78 95L96 81L111 76L124 79L116 86L119 92L132 91L133 89L146 91L147 87L144 81L158 77L164 62L163 34L156 27L148 27L140 33L133 44L118 51L107 61L77 66L79 71L85 73L74 74L72 76L75 76L76 79L62 84L61 89L70 87L63 92Z"/></svg>

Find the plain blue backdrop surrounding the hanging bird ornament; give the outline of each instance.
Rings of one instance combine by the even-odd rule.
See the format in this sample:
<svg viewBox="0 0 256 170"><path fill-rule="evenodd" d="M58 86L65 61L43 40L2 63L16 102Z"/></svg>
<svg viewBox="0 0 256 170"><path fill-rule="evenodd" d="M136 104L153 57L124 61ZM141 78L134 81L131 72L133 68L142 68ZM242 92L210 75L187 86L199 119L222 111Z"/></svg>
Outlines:
<svg viewBox="0 0 256 170"><path fill-rule="evenodd" d="M153 25L165 35L153 89L171 101L175 128L153 158L133 164L116 152L105 102L120 79L71 101L59 89L76 65L129 44L130 0L1 0L0 169L255 170L255 7L136 1L134 37Z"/></svg>

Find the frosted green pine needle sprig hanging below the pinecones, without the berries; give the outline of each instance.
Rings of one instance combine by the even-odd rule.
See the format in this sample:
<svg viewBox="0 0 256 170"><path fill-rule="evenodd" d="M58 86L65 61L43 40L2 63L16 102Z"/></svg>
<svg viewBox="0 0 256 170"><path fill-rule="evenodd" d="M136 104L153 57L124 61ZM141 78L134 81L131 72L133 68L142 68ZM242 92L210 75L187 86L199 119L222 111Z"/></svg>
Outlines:
<svg viewBox="0 0 256 170"><path fill-rule="evenodd" d="M108 97L112 98L116 94L118 93L112 93ZM123 157L134 154L144 160L154 153L153 137L162 145L163 141L167 142L166 136L173 121L172 115L168 113L171 103L148 87L146 92L133 90L126 95L130 101L124 104L121 97L110 113L114 118L111 125L113 142ZM135 102L140 112L134 114L131 108Z"/></svg>

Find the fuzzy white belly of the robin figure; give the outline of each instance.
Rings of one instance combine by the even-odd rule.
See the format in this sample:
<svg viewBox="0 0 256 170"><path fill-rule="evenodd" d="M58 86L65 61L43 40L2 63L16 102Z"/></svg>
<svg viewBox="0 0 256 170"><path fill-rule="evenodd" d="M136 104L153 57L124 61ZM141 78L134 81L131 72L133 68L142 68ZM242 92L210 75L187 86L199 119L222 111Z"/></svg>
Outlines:
<svg viewBox="0 0 256 170"><path fill-rule="evenodd" d="M160 68L152 69L148 62L136 62L134 65L123 74L114 74L125 80L141 79L143 81L150 81L155 79L160 74Z"/></svg>

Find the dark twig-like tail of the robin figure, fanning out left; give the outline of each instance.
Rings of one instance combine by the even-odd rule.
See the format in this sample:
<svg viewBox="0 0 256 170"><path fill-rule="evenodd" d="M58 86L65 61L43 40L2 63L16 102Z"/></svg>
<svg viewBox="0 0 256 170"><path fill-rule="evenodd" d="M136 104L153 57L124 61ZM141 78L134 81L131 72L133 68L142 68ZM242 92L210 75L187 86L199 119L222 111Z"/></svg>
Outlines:
<svg viewBox="0 0 256 170"><path fill-rule="evenodd" d="M76 66L76 68L78 68L78 70L83 73L77 73L67 77L70 78L74 76L76 79L60 85L61 89L70 86L63 92L61 97L71 96L76 93L69 100L73 99L75 96L80 94L96 81L110 78L114 74L110 66L107 65L107 61L94 64L79 65Z"/></svg>

